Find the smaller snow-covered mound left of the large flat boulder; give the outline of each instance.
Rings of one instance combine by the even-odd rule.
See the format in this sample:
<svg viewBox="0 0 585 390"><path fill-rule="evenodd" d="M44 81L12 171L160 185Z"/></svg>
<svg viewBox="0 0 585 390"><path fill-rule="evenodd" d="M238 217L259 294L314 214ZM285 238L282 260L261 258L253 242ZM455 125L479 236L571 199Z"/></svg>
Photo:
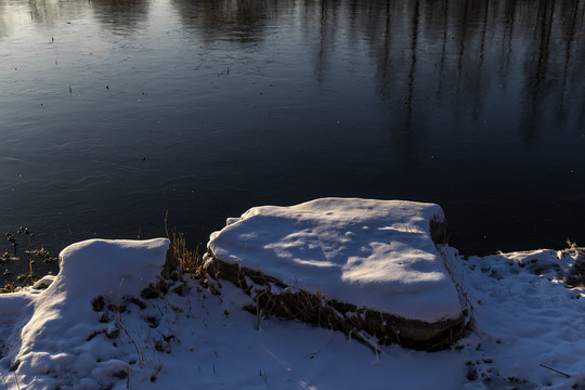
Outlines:
<svg viewBox="0 0 585 390"><path fill-rule="evenodd" d="M60 273L41 280L49 284L47 289L37 290L38 283L26 291L0 296L2 324L9 332L1 339L0 363L10 365L16 375L26 373L25 385L35 389L48 386L40 375L51 373L64 382L72 375L90 377L86 385L98 388L101 376L108 374L107 358L114 351L96 351L99 361L84 353L87 341L110 327L99 321L92 301L101 296L116 303L127 295L140 295L156 282L167 249L166 238L90 239L65 248Z"/></svg>

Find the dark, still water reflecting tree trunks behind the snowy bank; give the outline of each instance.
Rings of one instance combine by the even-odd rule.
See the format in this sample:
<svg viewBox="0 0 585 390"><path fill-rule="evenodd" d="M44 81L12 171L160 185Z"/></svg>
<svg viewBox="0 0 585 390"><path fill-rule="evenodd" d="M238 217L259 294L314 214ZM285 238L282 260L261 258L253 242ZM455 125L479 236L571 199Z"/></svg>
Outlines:
<svg viewBox="0 0 585 390"><path fill-rule="evenodd" d="M195 247L252 206L361 196L442 205L467 253L583 245L584 14L0 0L0 232L56 255L169 210Z"/></svg>

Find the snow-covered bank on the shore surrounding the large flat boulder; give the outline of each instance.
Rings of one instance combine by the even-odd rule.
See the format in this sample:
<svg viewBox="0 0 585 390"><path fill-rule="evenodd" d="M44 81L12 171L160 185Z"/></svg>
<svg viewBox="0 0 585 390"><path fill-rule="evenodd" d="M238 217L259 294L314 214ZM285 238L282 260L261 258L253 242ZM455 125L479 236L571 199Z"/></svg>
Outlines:
<svg viewBox="0 0 585 390"><path fill-rule="evenodd" d="M251 299L229 283L217 296L185 276L140 297L167 246L79 243L58 275L1 295L0 389L585 389L585 291L560 282L571 251L439 248L471 304L469 330L442 352L375 355L296 321L258 328L240 310Z"/></svg>

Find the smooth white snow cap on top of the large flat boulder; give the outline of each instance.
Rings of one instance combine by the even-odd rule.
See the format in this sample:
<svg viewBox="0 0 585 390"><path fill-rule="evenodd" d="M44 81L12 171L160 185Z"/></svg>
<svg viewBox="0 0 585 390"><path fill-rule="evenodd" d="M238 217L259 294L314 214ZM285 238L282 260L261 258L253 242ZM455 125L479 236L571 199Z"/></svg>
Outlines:
<svg viewBox="0 0 585 390"><path fill-rule="evenodd" d="M459 318L431 223L444 223L438 205L323 198L251 208L211 234L208 248L222 261L359 308L427 323Z"/></svg>

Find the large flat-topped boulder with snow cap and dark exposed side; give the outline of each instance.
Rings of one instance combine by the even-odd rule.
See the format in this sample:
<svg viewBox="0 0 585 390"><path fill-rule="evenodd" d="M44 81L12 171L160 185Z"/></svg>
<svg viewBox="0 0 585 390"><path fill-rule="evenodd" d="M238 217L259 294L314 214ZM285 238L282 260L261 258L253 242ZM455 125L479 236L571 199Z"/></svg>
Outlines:
<svg viewBox="0 0 585 390"><path fill-rule="evenodd" d="M446 238L440 206L323 198L264 206L211 234L208 275L253 297L261 314L344 332L370 346L450 346L465 315L435 242Z"/></svg>

